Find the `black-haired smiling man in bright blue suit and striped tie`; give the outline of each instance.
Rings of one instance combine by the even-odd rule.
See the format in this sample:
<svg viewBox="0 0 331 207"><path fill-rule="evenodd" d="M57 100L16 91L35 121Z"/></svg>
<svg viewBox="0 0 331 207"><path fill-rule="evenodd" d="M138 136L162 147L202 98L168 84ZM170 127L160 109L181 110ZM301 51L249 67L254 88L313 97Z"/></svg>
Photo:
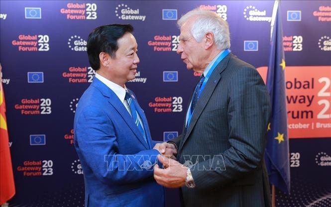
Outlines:
<svg viewBox="0 0 331 207"><path fill-rule="evenodd" d="M146 116L125 87L139 63L132 31L130 24L111 24L89 35L87 52L96 76L80 98L74 120L85 207L164 206L153 165L170 148L151 139Z"/></svg>

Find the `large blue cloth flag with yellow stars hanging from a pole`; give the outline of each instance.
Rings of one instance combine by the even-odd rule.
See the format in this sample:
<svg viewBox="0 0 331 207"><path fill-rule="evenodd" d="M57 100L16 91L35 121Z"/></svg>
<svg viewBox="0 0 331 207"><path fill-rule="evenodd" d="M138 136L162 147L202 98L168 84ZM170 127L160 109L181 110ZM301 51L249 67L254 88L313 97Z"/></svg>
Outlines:
<svg viewBox="0 0 331 207"><path fill-rule="evenodd" d="M285 58L283 31L278 0L275 1L271 21L271 52L267 73L267 89L272 104L265 162L272 185L290 193L289 137L285 91Z"/></svg>

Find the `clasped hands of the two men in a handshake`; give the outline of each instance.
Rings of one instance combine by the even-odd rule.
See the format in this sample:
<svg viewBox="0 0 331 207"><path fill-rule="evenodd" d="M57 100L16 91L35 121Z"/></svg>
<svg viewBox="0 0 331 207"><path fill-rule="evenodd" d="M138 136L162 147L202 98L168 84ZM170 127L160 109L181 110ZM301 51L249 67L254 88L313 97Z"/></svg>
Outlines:
<svg viewBox="0 0 331 207"><path fill-rule="evenodd" d="M187 167L176 161L177 148L172 143L157 143L153 149L160 152L157 156L163 169L154 165L155 181L167 188L179 188L185 185Z"/></svg>

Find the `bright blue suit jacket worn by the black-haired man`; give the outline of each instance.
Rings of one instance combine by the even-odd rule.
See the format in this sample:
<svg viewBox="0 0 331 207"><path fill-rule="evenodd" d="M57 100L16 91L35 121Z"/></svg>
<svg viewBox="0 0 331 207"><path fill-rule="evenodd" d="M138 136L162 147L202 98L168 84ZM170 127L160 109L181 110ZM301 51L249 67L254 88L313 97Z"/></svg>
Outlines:
<svg viewBox="0 0 331 207"><path fill-rule="evenodd" d="M143 110L132 100L148 143L123 103L99 79L94 78L77 105L74 144L84 173L85 207L164 206L164 189L153 178L156 142Z"/></svg>

